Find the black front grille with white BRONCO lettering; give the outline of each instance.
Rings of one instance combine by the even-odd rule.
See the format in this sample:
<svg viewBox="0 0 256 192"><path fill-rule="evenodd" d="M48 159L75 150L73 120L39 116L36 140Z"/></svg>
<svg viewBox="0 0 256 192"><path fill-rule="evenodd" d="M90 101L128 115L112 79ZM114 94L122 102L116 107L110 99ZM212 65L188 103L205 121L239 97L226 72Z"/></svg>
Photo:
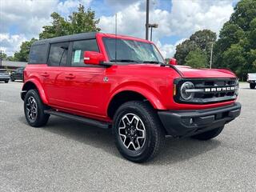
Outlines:
<svg viewBox="0 0 256 192"><path fill-rule="evenodd" d="M193 93L190 100L185 100L180 94L180 88L184 82L192 82L194 89L186 90ZM237 78L182 78L176 79L177 95L174 96L176 102L206 104L214 102L226 102L237 97Z"/></svg>

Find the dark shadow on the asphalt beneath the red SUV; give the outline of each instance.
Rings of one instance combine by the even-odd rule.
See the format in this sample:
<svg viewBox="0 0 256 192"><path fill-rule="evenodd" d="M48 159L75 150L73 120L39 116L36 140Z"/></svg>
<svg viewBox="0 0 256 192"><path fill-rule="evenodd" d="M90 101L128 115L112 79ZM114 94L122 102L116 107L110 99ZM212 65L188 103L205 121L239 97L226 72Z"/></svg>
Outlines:
<svg viewBox="0 0 256 192"><path fill-rule="evenodd" d="M19 118L19 121L26 124L26 119L24 117ZM77 142L82 142L86 145L100 148L111 155L122 158L114 145L114 138L112 137L111 130L86 126L86 124L80 122L58 117L50 117L49 122L42 129L50 131L53 134L64 136L68 139L73 139ZM214 150L220 144L221 142L216 138L206 142L190 138L166 138L166 144L158 156L142 165L159 166L186 161L200 154L204 154L207 151Z"/></svg>

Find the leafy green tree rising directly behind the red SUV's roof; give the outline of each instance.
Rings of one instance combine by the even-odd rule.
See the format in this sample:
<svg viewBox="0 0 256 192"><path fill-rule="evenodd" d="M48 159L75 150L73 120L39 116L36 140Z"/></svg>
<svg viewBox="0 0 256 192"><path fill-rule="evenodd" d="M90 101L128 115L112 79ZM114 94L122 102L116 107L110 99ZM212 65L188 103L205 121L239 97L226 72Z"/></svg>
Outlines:
<svg viewBox="0 0 256 192"><path fill-rule="evenodd" d="M51 26L43 26L43 31L39 34L39 39L54 38L68 34L78 34L82 32L99 31L97 27L99 19L95 18L93 10L86 10L81 4L78 11L73 12L68 19L54 12L50 15L53 22Z"/></svg>

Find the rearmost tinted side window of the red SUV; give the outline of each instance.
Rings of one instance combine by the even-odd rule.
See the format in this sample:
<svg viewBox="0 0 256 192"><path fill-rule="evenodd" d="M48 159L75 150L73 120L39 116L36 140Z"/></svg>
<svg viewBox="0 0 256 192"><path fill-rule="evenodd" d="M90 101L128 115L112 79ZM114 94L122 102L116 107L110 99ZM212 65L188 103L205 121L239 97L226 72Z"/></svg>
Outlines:
<svg viewBox="0 0 256 192"><path fill-rule="evenodd" d="M48 50L48 44L35 44L31 46L30 48L30 57L29 57L29 63L30 64L40 64L40 63L46 63L47 62L47 50Z"/></svg>

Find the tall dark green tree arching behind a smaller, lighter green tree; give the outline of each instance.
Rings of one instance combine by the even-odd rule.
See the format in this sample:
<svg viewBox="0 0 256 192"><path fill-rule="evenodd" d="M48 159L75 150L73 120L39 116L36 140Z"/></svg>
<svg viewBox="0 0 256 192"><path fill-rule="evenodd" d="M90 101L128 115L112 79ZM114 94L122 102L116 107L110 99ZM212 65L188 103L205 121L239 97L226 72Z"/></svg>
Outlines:
<svg viewBox="0 0 256 192"><path fill-rule="evenodd" d="M200 49L206 52L207 61L210 62L211 44L216 41L216 38L216 34L211 30L198 30L176 47L174 58L177 59L178 64L184 65L190 51Z"/></svg>

